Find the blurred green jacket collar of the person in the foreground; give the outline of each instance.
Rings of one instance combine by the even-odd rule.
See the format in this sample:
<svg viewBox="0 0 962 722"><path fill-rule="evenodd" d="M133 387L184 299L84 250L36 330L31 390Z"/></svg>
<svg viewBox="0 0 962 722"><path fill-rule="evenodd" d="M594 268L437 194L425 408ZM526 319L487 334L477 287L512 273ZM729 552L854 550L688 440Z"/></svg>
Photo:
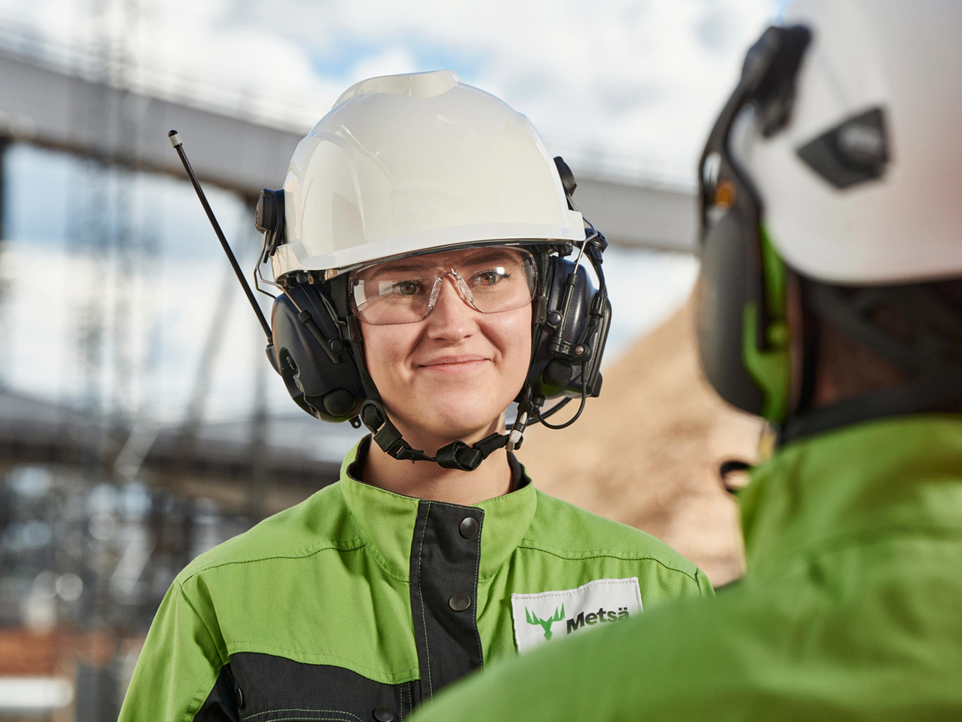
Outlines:
<svg viewBox="0 0 962 722"><path fill-rule="evenodd" d="M962 532L962 416L916 415L787 444L739 493L751 576L895 529Z"/></svg>

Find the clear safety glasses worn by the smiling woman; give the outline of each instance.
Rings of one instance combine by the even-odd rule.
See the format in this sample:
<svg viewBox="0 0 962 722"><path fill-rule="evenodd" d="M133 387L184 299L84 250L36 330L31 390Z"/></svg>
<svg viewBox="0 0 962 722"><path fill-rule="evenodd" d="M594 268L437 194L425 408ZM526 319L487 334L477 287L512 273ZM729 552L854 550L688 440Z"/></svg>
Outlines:
<svg viewBox="0 0 962 722"><path fill-rule="evenodd" d="M534 297L535 269L530 253L505 246L410 256L352 271L350 296L363 322L414 323L431 313L446 278L476 311L513 311Z"/></svg>

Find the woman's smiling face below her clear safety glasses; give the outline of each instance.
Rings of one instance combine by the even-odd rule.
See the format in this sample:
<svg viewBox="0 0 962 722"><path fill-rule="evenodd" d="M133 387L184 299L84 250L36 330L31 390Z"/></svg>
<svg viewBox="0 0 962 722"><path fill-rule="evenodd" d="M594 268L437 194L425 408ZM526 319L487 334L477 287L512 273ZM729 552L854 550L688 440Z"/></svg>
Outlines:
<svg viewBox="0 0 962 722"><path fill-rule="evenodd" d="M457 270L464 253L422 258L430 259L432 269ZM408 269L403 272L413 275ZM422 285L428 293L431 278L427 273L420 275L425 277ZM490 293L490 273L460 275L469 289L475 288L476 300ZM513 282L518 283L519 278L514 277ZM456 283L453 275L443 276L432 310L420 321L375 325L364 322L362 316L367 373L394 425L412 443L421 438L442 446L455 439L487 435L518 395L527 374L530 295L519 308L481 313L468 305ZM402 289L405 294L415 290L410 283ZM482 302L478 300L477 305Z"/></svg>

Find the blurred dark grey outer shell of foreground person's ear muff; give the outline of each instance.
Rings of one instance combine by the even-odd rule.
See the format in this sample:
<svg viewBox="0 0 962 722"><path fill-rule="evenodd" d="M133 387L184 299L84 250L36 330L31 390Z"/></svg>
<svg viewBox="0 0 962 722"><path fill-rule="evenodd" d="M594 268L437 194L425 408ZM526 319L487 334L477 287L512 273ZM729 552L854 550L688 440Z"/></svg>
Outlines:
<svg viewBox="0 0 962 722"><path fill-rule="evenodd" d="M738 206L705 234L701 278L696 290L696 322L701 367L722 399L752 414L760 414L761 390L748 375L743 355L749 289L759 283L754 255Z"/></svg>

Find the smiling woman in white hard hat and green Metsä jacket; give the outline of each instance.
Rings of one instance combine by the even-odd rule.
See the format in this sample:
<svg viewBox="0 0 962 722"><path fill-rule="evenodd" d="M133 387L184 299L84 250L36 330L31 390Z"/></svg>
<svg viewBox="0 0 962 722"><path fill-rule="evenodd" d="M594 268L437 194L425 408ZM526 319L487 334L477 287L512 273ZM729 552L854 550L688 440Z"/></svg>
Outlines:
<svg viewBox="0 0 962 722"><path fill-rule="evenodd" d="M401 720L493 659L712 594L511 451L545 400L600 386L605 244L573 190L525 116L450 71L363 81L300 142L258 212L269 355L298 405L371 435L178 575L121 720Z"/></svg>

